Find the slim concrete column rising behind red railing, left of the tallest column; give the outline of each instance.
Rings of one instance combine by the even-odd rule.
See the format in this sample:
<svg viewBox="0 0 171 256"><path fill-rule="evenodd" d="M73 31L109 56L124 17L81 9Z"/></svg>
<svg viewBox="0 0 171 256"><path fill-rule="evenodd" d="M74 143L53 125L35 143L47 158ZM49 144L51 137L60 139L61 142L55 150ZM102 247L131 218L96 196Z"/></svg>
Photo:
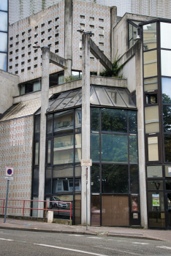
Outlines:
<svg viewBox="0 0 171 256"><path fill-rule="evenodd" d="M46 110L49 104L49 55L50 48L44 47L42 49L42 94L39 139L39 200L44 200L45 197ZM44 203L39 202L38 208L44 208ZM43 217L43 214L43 211L38 211L38 217Z"/></svg>

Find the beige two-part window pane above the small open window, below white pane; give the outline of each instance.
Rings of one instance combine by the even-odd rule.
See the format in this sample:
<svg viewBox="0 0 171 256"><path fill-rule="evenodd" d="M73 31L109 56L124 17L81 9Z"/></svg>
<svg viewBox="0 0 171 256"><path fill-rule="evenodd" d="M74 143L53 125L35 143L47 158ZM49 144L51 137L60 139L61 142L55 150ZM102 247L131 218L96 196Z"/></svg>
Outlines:
<svg viewBox="0 0 171 256"><path fill-rule="evenodd" d="M151 50L143 53L144 56L144 78L157 75L157 52Z"/></svg>

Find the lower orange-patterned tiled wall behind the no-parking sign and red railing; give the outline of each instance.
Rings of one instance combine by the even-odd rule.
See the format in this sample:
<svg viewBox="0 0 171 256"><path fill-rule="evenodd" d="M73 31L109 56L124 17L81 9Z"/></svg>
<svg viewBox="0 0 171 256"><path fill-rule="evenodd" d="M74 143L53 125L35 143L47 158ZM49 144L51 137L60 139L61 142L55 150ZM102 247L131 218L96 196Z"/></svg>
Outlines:
<svg viewBox="0 0 171 256"><path fill-rule="evenodd" d="M31 167L33 116L0 122L0 198L6 197L5 167L14 167L14 180L9 181L9 199L31 200ZM3 201L0 200L0 206ZM9 201L9 206L21 207L23 203ZM30 203L26 203L29 207ZM0 208L2 214L2 208ZM7 214L22 215L22 209L7 209ZM25 216L29 216L26 210Z"/></svg>

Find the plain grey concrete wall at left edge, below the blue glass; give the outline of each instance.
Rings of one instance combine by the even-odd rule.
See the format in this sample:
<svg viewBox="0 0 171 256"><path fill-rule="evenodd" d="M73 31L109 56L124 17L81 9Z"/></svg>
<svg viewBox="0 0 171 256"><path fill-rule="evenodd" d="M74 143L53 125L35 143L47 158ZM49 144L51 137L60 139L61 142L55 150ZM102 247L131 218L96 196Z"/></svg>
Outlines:
<svg viewBox="0 0 171 256"><path fill-rule="evenodd" d="M18 76L0 69L0 114L12 106L13 96L19 95Z"/></svg>

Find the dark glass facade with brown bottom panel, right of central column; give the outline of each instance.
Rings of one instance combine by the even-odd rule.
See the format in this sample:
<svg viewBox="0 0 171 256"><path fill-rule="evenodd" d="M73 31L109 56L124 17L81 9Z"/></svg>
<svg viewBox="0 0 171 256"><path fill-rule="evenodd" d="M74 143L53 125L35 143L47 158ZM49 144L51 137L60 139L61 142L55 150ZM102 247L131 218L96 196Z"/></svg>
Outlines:
<svg viewBox="0 0 171 256"><path fill-rule="evenodd" d="M91 225L140 225L136 110L91 108L91 159Z"/></svg>

